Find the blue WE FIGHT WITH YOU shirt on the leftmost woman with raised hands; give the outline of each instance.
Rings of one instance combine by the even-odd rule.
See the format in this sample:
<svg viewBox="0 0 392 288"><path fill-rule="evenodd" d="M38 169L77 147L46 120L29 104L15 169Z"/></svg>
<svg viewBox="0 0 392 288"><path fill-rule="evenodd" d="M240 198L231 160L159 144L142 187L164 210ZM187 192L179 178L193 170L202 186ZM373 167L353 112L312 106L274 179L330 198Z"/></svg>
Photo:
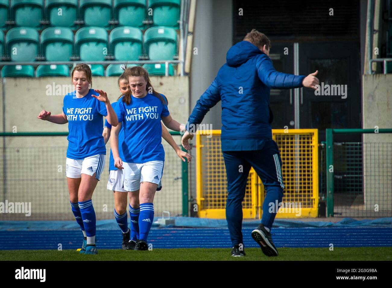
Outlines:
<svg viewBox="0 0 392 288"><path fill-rule="evenodd" d="M82 98L76 98L75 91L64 96L63 112L67 116L69 130L68 158L84 159L106 154L102 136L102 116L107 116L106 106L91 95L99 94L90 89Z"/></svg>

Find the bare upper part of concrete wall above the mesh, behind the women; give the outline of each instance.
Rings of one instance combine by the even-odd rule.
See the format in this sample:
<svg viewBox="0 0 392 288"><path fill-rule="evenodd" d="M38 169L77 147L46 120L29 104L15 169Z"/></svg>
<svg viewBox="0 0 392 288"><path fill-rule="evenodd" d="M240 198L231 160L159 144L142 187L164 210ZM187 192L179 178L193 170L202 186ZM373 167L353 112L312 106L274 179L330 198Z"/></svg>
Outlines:
<svg viewBox="0 0 392 288"><path fill-rule="evenodd" d="M185 123L189 115L189 83L188 77L152 77L152 85L156 91L163 93L169 100L169 111L173 119ZM47 86L48 85L48 86ZM52 87L70 85L69 78L6 78L5 91L5 131L17 132L32 131L63 131L67 132L67 124L56 125L48 121L38 120L37 116L42 109L60 114L63 107L64 94L53 92ZM47 88L49 87L49 89ZM116 77L93 78L93 88L107 92L111 102L120 96ZM3 117L2 117L3 120ZM66 139L52 139L50 142L44 138L8 138L7 146L38 145L59 146L67 145ZM23 139L23 138L22 138Z"/></svg>

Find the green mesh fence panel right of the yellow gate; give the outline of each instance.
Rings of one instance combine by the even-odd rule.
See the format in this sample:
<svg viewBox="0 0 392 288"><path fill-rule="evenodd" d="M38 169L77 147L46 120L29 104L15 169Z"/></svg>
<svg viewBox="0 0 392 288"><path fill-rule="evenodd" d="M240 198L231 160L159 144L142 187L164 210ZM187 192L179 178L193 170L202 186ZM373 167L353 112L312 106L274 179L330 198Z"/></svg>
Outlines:
<svg viewBox="0 0 392 288"><path fill-rule="evenodd" d="M325 181L320 181L321 185L323 181L327 184L327 214L337 217L391 217L392 135L387 133L392 130L379 129L379 133L372 129L327 130L346 134L343 138L347 139L354 133L359 133L362 138L361 142L338 142L327 136ZM328 147L332 147L329 152Z"/></svg>

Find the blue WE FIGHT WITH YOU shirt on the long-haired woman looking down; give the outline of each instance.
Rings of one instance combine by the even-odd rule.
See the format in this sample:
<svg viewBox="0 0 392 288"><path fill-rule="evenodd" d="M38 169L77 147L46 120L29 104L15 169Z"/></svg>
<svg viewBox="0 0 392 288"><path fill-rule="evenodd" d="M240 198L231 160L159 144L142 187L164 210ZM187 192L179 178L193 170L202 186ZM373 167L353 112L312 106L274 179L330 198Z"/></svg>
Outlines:
<svg viewBox="0 0 392 288"><path fill-rule="evenodd" d="M165 97L161 94L163 99ZM118 122L123 126L122 160L127 163L165 161L162 146L161 117L169 116L167 105L152 95L135 98L131 103L118 102L115 110Z"/></svg>

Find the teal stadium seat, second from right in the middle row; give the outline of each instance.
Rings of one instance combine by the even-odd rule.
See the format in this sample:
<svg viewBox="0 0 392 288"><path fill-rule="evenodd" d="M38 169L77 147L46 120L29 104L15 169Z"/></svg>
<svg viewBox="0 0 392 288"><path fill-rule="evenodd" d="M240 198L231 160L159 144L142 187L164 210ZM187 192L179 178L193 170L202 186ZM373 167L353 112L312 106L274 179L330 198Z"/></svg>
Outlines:
<svg viewBox="0 0 392 288"><path fill-rule="evenodd" d="M110 51L116 60L139 60L142 54L142 30L135 27L117 27L110 33Z"/></svg>

